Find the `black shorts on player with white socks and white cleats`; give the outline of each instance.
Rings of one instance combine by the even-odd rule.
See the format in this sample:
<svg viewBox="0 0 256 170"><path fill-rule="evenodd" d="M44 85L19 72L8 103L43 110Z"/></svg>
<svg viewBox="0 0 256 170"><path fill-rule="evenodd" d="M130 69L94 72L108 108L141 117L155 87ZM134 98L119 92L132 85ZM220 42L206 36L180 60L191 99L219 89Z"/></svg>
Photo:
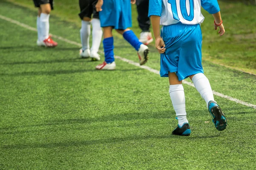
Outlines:
<svg viewBox="0 0 256 170"><path fill-rule="evenodd" d="M96 11L95 5L98 2L98 0L79 0L79 6L80 6L80 13L79 17L81 20L84 17L92 17L93 18L98 18L99 19L99 12Z"/></svg>

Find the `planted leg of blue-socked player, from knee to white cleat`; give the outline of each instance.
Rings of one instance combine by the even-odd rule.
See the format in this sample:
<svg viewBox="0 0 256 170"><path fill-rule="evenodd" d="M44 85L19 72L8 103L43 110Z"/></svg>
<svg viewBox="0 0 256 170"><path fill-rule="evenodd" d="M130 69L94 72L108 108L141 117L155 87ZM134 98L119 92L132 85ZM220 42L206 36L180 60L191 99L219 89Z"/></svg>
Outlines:
<svg viewBox="0 0 256 170"><path fill-rule="evenodd" d="M114 58L114 39L112 35L112 26L103 27L103 48L105 61L96 66L97 70L115 70L116 63Z"/></svg>

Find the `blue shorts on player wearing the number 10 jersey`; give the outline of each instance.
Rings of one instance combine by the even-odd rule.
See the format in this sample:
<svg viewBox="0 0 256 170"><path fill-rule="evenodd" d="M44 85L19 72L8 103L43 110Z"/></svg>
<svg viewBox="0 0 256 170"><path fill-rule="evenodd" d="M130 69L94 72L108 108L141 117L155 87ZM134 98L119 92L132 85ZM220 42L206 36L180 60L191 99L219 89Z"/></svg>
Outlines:
<svg viewBox="0 0 256 170"><path fill-rule="evenodd" d="M160 76L175 72L179 81L190 75L204 73L202 67L202 32L199 24L177 23L161 28L166 51L161 54Z"/></svg>

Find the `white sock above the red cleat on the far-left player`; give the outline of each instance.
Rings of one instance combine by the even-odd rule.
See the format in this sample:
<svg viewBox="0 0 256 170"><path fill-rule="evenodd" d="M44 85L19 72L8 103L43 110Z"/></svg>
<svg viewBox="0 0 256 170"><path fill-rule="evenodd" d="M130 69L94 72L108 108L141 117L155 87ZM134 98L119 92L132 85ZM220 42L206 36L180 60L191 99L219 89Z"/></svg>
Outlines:
<svg viewBox="0 0 256 170"><path fill-rule="evenodd" d="M41 40L45 40L49 37L49 17L50 14L41 13L40 15Z"/></svg>

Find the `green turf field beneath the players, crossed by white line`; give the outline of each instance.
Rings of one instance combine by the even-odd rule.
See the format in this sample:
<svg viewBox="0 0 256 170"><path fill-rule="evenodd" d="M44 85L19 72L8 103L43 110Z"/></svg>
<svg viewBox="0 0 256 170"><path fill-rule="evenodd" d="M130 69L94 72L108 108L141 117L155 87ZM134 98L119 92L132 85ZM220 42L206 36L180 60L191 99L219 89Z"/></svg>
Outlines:
<svg viewBox="0 0 256 170"><path fill-rule="evenodd" d="M0 16L36 27L34 9L1 1ZM177 120L167 78L120 59L116 71L96 71L102 61L80 59L77 45L55 39L57 48L39 48L35 31L1 17L0 28L1 170L256 169L256 109L215 96L228 120L227 129L217 131L200 94L184 84L192 133L173 136ZM50 17L54 35L79 43L79 29L72 20ZM211 34L218 37L206 32L204 38ZM228 46L228 38L220 41ZM246 41L255 40L234 46L230 59L248 54L242 60L255 66L255 48ZM114 43L117 56L138 62L125 40ZM153 45L150 50L146 65L159 70L159 54ZM216 63L203 62L212 89L256 105L256 77Z"/></svg>

